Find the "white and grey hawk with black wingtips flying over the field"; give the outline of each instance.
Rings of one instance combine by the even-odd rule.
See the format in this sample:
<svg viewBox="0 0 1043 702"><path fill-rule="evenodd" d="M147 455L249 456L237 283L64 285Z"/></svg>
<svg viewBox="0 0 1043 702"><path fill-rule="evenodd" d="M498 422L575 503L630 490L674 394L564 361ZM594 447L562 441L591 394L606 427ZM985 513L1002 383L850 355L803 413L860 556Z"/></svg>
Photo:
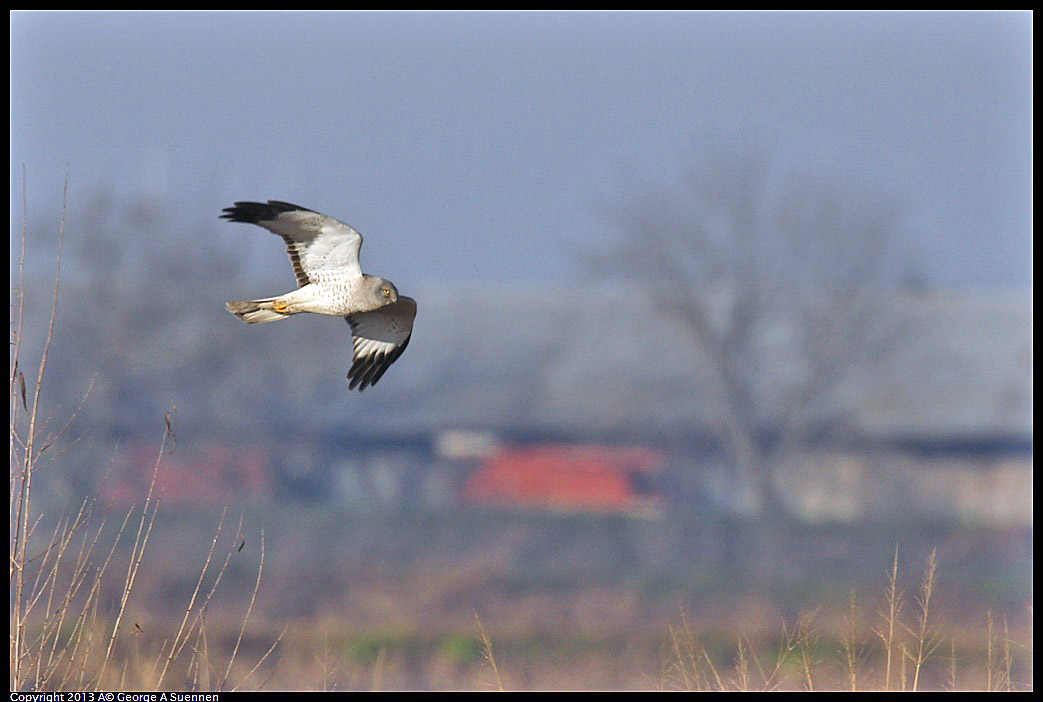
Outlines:
<svg viewBox="0 0 1043 702"><path fill-rule="evenodd" d="M280 200L236 202L222 219L258 224L283 237L297 289L275 297L226 302L248 324L301 312L344 317L351 328L354 363L348 389L361 392L387 371L409 345L416 300L383 277L362 272L362 235L333 217Z"/></svg>

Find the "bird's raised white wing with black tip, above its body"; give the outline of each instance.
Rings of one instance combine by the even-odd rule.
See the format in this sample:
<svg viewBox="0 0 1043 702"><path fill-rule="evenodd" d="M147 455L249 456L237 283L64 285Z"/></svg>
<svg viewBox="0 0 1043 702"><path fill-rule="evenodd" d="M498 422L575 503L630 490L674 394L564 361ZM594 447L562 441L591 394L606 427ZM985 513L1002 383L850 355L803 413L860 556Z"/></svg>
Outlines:
<svg viewBox="0 0 1043 702"><path fill-rule="evenodd" d="M222 212L223 219L258 224L283 237L298 288L309 283L336 283L362 275L359 265L362 235L344 222L280 200L236 202Z"/></svg>

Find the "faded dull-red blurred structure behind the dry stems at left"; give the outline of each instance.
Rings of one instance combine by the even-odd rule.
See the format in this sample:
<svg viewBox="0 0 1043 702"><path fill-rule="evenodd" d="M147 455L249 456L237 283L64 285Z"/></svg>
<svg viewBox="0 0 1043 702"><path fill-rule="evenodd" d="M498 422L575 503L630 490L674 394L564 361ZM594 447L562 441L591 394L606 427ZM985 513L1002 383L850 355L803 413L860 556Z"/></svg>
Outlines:
<svg viewBox="0 0 1043 702"><path fill-rule="evenodd" d="M148 494L159 453L159 446L144 443L128 449L114 475L102 481L102 499L120 507L140 504ZM152 497L170 506L205 507L262 498L269 487L261 451L211 445L191 455L165 455Z"/></svg>

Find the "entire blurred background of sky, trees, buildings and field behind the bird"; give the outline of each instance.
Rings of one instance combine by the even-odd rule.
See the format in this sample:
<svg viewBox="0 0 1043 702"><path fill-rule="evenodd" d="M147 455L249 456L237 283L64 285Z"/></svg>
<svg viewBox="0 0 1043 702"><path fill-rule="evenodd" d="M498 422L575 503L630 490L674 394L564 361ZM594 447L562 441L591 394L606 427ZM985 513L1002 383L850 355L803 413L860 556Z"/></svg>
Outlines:
<svg viewBox="0 0 1043 702"><path fill-rule="evenodd" d="M932 551L931 684L1029 685L1030 65L1027 13L15 13L34 509L118 523L166 416L120 626L156 655L217 534L247 687L692 687L678 631L807 612L882 686ZM269 198L418 300L377 387L225 312L294 287L218 219Z"/></svg>

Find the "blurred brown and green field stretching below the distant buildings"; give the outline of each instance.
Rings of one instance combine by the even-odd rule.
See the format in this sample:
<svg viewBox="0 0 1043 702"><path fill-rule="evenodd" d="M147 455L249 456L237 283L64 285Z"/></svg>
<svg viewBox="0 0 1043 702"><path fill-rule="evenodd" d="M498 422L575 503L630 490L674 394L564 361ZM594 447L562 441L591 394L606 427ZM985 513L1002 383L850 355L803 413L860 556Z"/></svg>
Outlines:
<svg viewBox="0 0 1043 702"><path fill-rule="evenodd" d="M145 513L111 555L118 525L84 524L54 578L53 561L27 564L43 570L33 592L47 612L62 603L60 622L25 618L28 680L50 669L45 688L1032 687L1025 532L791 525L768 538L728 521Z"/></svg>

